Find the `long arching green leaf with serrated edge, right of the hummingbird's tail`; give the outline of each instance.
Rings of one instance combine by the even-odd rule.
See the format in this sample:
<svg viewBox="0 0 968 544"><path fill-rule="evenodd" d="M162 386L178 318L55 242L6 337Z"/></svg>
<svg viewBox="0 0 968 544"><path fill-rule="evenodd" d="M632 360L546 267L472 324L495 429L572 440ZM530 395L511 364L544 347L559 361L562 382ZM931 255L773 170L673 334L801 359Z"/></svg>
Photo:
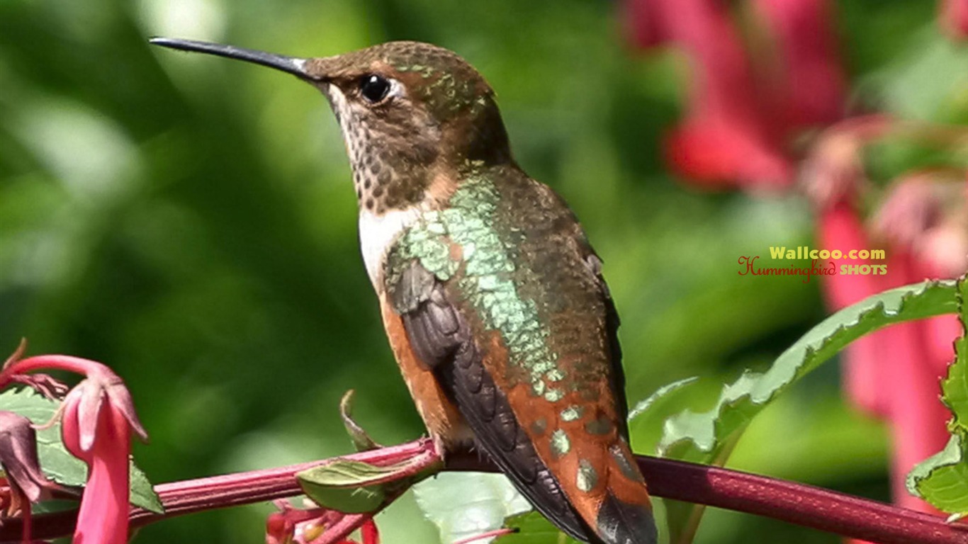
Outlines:
<svg viewBox="0 0 968 544"><path fill-rule="evenodd" d="M666 421L660 453L693 463L723 465L752 418L798 379L840 349L882 327L957 311L953 281L898 287L828 317L784 351L770 370L744 373L727 384L710 411L686 410ZM689 542L702 515L695 504L666 501L672 541Z"/></svg>

